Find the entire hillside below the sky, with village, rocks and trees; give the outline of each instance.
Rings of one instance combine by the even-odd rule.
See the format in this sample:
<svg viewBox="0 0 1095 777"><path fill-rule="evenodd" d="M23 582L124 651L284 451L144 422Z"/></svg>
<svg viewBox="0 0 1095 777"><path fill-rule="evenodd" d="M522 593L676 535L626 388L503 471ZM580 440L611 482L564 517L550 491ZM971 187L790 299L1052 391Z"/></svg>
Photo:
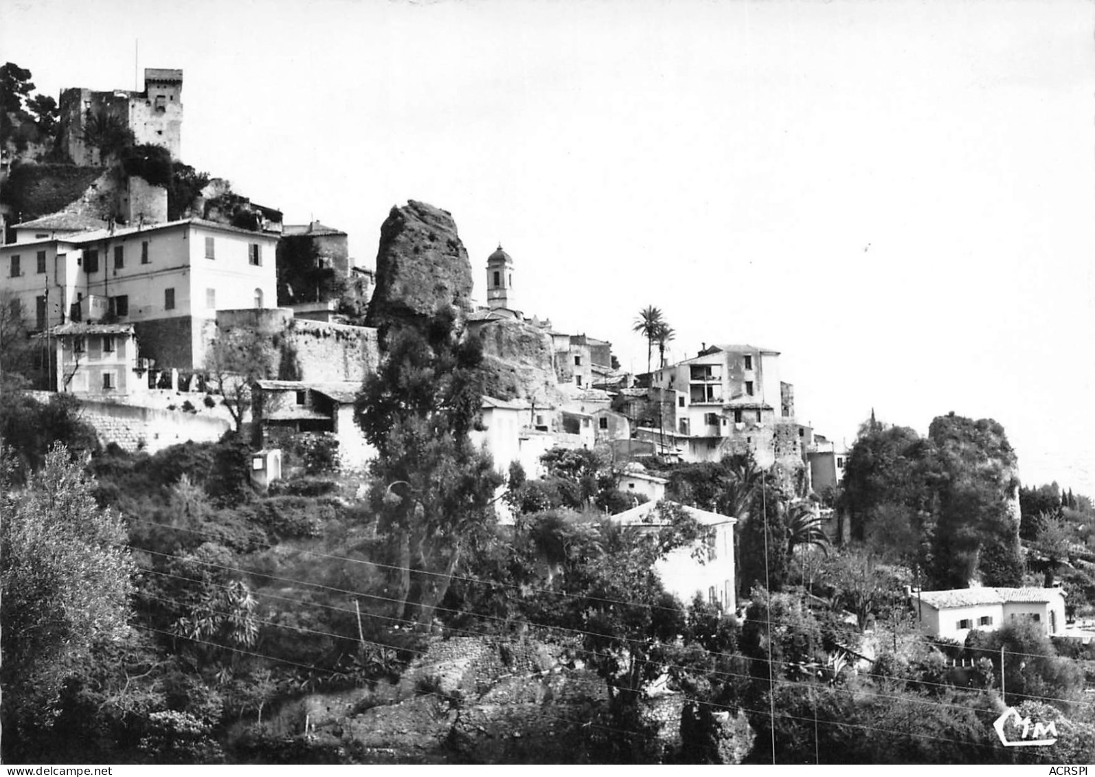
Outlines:
<svg viewBox="0 0 1095 777"><path fill-rule="evenodd" d="M629 374L441 208L365 263L183 163L182 70L4 69L9 763L1095 753L1095 509L995 421L845 449L653 306Z"/></svg>

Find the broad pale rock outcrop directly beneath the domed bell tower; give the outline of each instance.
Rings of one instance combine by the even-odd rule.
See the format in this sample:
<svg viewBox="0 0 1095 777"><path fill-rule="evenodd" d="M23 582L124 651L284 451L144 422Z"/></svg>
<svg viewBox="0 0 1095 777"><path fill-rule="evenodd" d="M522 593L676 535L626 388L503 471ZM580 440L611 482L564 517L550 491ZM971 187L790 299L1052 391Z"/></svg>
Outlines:
<svg viewBox="0 0 1095 777"><path fill-rule="evenodd" d="M538 405L563 401L555 381L551 336L519 321L487 321L472 327L483 344L483 393Z"/></svg>

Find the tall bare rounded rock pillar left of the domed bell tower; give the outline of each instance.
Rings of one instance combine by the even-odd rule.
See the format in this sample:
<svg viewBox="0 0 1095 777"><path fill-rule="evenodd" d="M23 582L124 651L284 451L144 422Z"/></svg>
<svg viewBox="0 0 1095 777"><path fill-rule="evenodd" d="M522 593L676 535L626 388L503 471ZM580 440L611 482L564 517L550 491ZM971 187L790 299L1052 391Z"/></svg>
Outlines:
<svg viewBox="0 0 1095 777"><path fill-rule="evenodd" d="M471 309L472 266L452 214L410 200L392 208L380 228L377 288L366 326L414 324L438 308L456 308L462 320Z"/></svg>

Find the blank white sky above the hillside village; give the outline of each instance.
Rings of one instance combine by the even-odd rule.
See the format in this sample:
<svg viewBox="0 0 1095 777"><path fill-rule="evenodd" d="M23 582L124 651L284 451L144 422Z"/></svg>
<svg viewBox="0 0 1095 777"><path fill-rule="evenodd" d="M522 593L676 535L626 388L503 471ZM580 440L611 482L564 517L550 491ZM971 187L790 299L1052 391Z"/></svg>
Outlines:
<svg viewBox="0 0 1095 777"><path fill-rule="evenodd" d="M1001 421L1028 484L1095 496L1091 2L7 0L38 91L184 70L183 160L372 265L392 205L452 212L483 294L673 358L782 351L851 443Z"/></svg>

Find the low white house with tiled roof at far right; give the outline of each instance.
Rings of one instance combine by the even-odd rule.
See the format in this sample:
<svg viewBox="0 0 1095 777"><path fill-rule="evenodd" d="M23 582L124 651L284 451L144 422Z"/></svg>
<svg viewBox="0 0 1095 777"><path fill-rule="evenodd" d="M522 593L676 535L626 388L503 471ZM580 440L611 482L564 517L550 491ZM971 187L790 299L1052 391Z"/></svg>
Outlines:
<svg viewBox="0 0 1095 777"><path fill-rule="evenodd" d="M1039 624L1049 636L1064 630L1064 591L1059 588L961 588L909 596L933 637L965 641L971 629L994 630L1021 619Z"/></svg>

